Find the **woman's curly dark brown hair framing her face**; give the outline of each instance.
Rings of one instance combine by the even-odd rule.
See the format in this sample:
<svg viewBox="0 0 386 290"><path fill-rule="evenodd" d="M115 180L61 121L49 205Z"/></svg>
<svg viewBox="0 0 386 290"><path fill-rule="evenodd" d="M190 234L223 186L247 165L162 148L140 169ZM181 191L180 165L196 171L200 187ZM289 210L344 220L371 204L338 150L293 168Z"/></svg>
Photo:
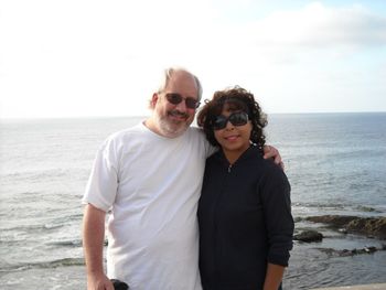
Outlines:
<svg viewBox="0 0 386 290"><path fill-rule="evenodd" d="M224 105L228 106L229 111L245 111L251 121L250 141L258 146L262 152L266 143L264 127L267 126L267 116L261 111L259 104L248 90L235 86L233 88L217 90L211 100L205 99L205 105L197 115L197 125L203 128L206 139L211 144L219 147L214 137L213 122L223 111Z"/></svg>

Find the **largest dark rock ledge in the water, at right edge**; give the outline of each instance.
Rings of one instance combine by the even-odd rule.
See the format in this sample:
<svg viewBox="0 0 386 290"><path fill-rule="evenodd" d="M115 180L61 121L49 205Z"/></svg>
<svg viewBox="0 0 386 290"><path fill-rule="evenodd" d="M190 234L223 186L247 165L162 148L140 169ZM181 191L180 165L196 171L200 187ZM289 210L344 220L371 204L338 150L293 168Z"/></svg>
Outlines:
<svg viewBox="0 0 386 290"><path fill-rule="evenodd" d="M358 217L344 215L309 216L307 221L328 224L335 229L386 239L386 217Z"/></svg>

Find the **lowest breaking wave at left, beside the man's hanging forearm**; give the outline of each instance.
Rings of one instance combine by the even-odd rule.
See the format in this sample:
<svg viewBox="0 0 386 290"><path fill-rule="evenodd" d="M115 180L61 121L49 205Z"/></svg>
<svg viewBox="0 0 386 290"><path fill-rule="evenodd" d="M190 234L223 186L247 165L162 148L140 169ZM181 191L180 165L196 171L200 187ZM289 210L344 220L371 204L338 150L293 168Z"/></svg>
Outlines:
<svg viewBox="0 0 386 290"><path fill-rule="evenodd" d="M51 269L57 267L84 266L84 258L64 258L52 261L25 262L18 265L2 265L0 272L17 272L29 269Z"/></svg>

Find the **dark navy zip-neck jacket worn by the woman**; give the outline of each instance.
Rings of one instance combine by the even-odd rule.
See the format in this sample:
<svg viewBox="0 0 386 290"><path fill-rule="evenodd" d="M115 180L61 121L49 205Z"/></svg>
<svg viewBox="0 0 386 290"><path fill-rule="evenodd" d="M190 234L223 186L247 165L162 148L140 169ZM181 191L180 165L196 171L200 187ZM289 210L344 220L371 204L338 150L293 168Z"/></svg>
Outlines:
<svg viewBox="0 0 386 290"><path fill-rule="evenodd" d="M257 147L233 165L222 150L206 160L197 214L204 289L262 289L267 262L288 266L290 184Z"/></svg>

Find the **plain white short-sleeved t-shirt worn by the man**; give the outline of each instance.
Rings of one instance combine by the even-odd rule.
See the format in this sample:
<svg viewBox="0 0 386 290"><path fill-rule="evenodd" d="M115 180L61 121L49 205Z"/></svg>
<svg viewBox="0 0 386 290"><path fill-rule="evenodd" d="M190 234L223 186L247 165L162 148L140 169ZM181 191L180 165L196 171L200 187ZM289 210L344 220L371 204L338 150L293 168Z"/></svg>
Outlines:
<svg viewBox="0 0 386 290"><path fill-rule="evenodd" d="M196 208L204 133L164 138L140 123L97 153L84 203L107 212L107 276L137 289L201 289Z"/></svg>

